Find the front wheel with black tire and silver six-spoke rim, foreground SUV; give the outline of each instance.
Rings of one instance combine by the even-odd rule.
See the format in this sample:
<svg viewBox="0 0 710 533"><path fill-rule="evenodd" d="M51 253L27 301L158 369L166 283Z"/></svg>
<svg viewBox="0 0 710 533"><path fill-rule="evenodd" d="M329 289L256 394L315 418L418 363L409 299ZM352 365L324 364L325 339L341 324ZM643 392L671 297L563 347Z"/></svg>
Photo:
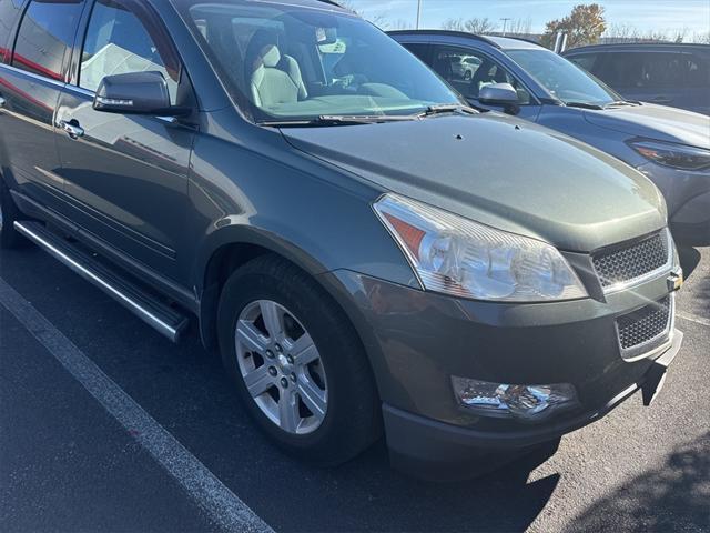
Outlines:
<svg viewBox="0 0 710 533"><path fill-rule="evenodd" d="M285 324L284 336L268 333L265 316L272 312L278 316L278 324ZM239 338L237 325L240 332L246 332ZM358 455L381 436L381 402L359 338L341 308L297 266L276 255L262 255L235 271L222 291L217 330L222 360L242 403L256 424L288 454L332 466ZM258 342L244 342L242 339L252 339L253 331L260 333ZM315 351L303 351L308 356L301 359L294 346L306 345L306 335ZM278 339L284 339L283 346L275 344ZM316 362L298 366L298 361L306 361L316 352ZM291 360L293 365L288 364L290 354L297 358ZM300 370L291 372L296 368ZM277 374L267 375L266 370ZM251 378L256 372L261 372L258 386ZM264 386L268 386L267 391L260 393ZM317 394L311 392L313 389ZM305 401L316 396L318 402ZM298 425L283 414L282 398L295 399L287 405L295 405ZM323 403L324 414L318 415L311 405L320 408ZM286 411L293 413L293 409Z"/></svg>

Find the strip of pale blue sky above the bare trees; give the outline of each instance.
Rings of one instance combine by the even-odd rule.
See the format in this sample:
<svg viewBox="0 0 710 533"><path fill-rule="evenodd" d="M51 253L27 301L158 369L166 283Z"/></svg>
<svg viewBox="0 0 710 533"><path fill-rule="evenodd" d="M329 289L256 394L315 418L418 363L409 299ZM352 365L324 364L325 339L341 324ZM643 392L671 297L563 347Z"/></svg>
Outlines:
<svg viewBox="0 0 710 533"><path fill-rule="evenodd" d="M639 31L710 32L710 0L422 0L422 28L440 28L450 18L488 18L503 24L504 17L530 19L532 32L568 14L578 3L601 4L607 23L630 24ZM383 16L390 26L414 26L417 0L348 0L365 17Z"/></svg>

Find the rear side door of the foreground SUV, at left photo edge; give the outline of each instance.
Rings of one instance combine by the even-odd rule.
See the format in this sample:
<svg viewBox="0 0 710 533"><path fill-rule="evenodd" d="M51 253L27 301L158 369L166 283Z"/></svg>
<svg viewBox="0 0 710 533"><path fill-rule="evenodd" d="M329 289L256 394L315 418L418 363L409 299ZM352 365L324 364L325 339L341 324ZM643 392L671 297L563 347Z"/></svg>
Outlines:
<svg viewBox="0 0 710 533"><path fill-rule="evenodd" d="M32 0L21 7L18 0L0 3L0 38L8 29L12 36L4 43L0 64L3 174L24 195L58 210L63 183L53 119L84 2ZM23 14L14 32L18 23L13 19L20 11Z"/></svg>

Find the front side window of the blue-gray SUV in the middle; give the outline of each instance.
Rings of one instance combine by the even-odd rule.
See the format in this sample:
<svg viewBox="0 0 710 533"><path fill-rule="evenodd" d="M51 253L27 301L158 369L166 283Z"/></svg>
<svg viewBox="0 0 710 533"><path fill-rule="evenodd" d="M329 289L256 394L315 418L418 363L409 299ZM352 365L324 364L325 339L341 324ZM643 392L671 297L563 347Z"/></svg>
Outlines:
<svg viewBox="0 0 710 533"><path fill-rule="evenodd" d="M530 93L506 69L474 50L434 47L432 67L466 98L478 98L480 89L493 83L510 83L521 105L530 103Z"/></svg>

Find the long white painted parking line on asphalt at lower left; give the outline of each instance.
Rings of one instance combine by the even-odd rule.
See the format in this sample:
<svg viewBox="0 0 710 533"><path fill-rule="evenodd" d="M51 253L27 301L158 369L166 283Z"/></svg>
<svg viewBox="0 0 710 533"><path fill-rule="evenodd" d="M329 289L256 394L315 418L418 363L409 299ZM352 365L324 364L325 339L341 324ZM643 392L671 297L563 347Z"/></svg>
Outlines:
<svg viewBox="0 0 710 533"><path fill-rule="evenodd" d="M31 303L0 279L0 303L79 381L225 531L273 533L197 457L104 374Z"/></svg>

